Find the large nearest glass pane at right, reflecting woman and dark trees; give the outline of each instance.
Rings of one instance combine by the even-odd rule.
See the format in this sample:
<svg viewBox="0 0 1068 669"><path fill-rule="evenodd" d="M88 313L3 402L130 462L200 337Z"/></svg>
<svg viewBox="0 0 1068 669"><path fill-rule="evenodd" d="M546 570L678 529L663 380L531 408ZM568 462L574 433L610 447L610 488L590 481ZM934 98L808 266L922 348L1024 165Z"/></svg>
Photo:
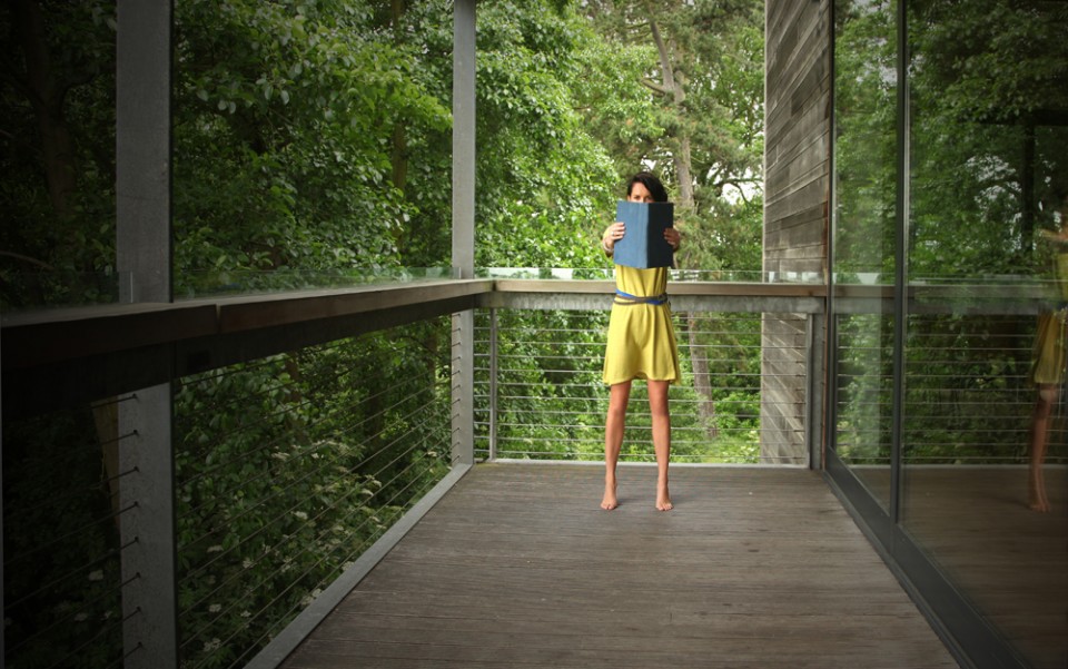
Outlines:
<svg viewBox="0 0 1068 669"><path fill-rule="evenodd" d="M902 527L1030 666L1064 667L1068 8L921 2L909 35Z"/></svg>

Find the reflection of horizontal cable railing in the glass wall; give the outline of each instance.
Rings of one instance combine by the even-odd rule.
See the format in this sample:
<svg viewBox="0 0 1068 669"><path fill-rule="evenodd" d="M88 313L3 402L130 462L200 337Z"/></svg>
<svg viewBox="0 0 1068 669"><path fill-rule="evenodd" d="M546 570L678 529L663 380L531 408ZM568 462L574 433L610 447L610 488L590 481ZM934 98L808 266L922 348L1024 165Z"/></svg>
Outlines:
<svg viewBox="0 0 1068 669"><path fill-rule="evenodd" d="M890 462L892 343L879 315L839 316L835 447L854 465ZM909 465L1024 465L1036 390L1030 314L921 314L909 318L903 462ZM1068 462L1064 393L1058 394L1048 464Z"/></svg>

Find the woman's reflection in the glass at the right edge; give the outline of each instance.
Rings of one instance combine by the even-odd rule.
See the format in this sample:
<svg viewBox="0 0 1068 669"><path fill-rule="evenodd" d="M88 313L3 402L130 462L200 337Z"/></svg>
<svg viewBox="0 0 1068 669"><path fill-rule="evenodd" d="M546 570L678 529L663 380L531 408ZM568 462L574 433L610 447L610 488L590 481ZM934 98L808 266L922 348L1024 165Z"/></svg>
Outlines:
<svg viewBox="0 0 1068 669"><path fill-rule="evenodd" d="M1038 332L1035 336L1035 361L1030 380L1038 396L1031 414L1031 443L1028 459L1027 505L1035 511L1049 511L1049 498L1046 496L1046 480L1042 463L1049 442L1049 416L1054 405L1060 399L1060 386L1065 383L1065 365L1068 363L1068 199L1060 210L1060 230L1045 233L1044 237L1054 245L1054 273L1057 283L1057 297L1060 301L1056 309L1046 311L1038 316Z"/></svg>

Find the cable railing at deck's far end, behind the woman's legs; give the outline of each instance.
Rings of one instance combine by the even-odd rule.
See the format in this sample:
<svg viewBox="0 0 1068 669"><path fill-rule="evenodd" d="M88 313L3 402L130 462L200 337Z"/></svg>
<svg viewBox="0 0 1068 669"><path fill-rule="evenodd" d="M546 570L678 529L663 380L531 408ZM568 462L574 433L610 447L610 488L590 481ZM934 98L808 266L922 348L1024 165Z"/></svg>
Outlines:
<svg viewBox="0 0 1068 669"><path fill-rule="evenodd" d="M803 384L805 352L792 373L761 372L761 314L676 314L683 381L671 388L672 459L770 462L760 452L761 387L768 377ZM481 313L476 321L476 454L482 458L600 460L607 388L601 381L606 312ZM694 383L694 367L703 384ZM699 390L703 385L703 392ZM803 406L767 410L803 430ZM652 461L645 386L635 382L622 461ZM795 434L801 441L803 435Z"/></svg>

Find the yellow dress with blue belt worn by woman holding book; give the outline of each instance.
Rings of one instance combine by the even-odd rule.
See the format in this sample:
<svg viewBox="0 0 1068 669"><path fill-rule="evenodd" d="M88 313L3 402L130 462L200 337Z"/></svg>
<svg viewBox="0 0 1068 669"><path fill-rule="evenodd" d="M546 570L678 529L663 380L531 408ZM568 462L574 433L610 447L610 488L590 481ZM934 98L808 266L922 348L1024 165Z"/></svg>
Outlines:
<svg viewBox="0 0 1068 669"><path fill-rule="evenodd" d="M668 268L637 269L615 266L617 291L636 297L663 295ZM609 319L609 343L604 353L604 383L614 385L633 378L679 383L679 346L671 324L671 306L632 303L616 297Z"/></svg>

